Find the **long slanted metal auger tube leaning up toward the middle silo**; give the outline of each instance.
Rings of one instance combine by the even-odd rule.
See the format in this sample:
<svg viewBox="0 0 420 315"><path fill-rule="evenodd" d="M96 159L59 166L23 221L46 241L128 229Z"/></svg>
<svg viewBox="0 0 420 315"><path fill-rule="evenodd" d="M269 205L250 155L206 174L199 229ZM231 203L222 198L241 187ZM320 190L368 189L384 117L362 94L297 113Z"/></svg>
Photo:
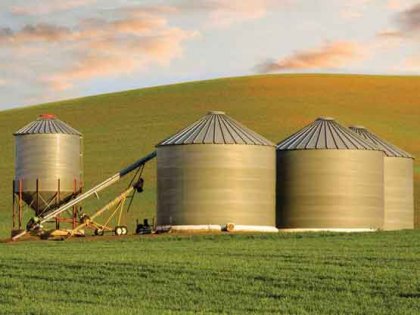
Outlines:
<svg viewBox="0 0 420 315"><path fill-rule="evenodd" d="M132 171L138 169L141 165L146 164L147 162L154 159L155 157L156 157L156 151L153 151L152 153L150 153L150 154L146 155L145 157L141 158L140 160L137 160L136 162L134 162L133 164L127 166L124 169L122 169L121 171L119 171L115 175L107 178L106 180L104 180L100 184L98 184L95 187L89 189L88 191L84 192L83 194L81 194L80 196L76 197L75 199L69 201L68 203L62 205L58 209L55 209L55 210L47 213L45 216L41 216L39 224L43 224L43 223L55 218L57 215L63 213L67 209L70 209L71 207L77 205L78 203L82 202L86 198L89 198L93 194L96 194L96 193L100 192L101 190L104 190L105 188L111 186L112 184L115 184L122 177L124 177L125 175L127 175L127 174L131 173ZM12 237L12 240L14 240L14 241L17 240L18 238L25 235L27 232L28 231L23 231L23 232L15 235L14 237Z"/></svg>

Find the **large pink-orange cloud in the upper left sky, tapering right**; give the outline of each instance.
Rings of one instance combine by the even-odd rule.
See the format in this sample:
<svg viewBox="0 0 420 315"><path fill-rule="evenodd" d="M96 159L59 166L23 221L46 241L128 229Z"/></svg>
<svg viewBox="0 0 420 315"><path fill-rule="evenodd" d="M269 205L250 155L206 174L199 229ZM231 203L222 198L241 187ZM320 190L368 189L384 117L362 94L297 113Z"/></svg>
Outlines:
<svg viewBox="0 0 420 315"><path fill-rule="evenodd" d="M182 54L182 43L197 34L169 27L160 19L156 23L128 19L102 25L95 21L75 36L79 47L75 59L42 80L64 90L75 82L124 75L153 64L167 65Z"/></svg>

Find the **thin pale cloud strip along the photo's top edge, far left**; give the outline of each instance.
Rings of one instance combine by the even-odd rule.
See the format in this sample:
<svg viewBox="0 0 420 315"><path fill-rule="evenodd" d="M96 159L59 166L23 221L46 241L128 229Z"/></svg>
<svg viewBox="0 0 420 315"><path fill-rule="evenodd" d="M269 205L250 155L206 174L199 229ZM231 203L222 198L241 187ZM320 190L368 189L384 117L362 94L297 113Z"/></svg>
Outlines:
<svg viewBox="0 0 420 315"><path fill-rule="evenodd" d="M14 15L47 15L67 11L95 3L96 0L43 0L32 5L12 6L10 12Z"/></svg>

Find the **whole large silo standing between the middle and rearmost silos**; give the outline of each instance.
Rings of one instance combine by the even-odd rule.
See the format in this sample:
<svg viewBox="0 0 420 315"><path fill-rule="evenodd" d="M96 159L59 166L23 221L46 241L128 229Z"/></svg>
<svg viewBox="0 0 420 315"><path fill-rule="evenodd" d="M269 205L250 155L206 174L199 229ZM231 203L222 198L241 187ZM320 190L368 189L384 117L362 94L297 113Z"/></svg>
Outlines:
<svg viewBox="0 0 420 315"><path fill-rule="evenodd" d="M277 227L382 228L383 153L320 117L277 145Z"/></svg>

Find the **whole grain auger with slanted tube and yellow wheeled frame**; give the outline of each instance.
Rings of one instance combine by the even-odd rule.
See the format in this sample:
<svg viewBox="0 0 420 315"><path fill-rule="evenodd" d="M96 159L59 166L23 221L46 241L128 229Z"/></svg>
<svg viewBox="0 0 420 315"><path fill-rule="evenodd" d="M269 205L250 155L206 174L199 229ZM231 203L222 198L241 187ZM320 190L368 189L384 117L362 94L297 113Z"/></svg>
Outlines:
<svg viewBox="0 0 420 315"><path fill-rule="evenodd" d="M44 223L50 222L52 219L55 219L60 214L64 213L65 211L68 211L69 209L78 205L80 202L86 200L90 196L92 195L97 196L100 191L117 183L121 178L123 178L127 174L130 174L137 170L129 187L124 192L122 192L119 196L117 196L114 200L112 200L111 202L109 202L104 207L100 208L99 210L95 211L91 215L86 214L86 213L80 214L79 224L74 229L69 231L68 236L78 234L85 227L93 229L96 235L103 235L105 232L114 232L116 235L127 234L128 232L127 227L124 225L120 225L124 204L127 199L131 198L130 204L128 205L130 206L132 202L132 198L134 197L134 193L143 191L144 180L141 177L143 168L147 162L154 159L155 157L156 157L156 151L130 164L126 168L120 170L118 173L105 179L103 182L99 183L98 185L86 191L85 193L79 195L78 197L70 200L69 202L63 204L59 208L49 211L47 213L43 213L42 215L33 217L32 219L29 220L28 224L26 225L26 230L18 233L17 235L14 235L12 237L12 240L15 241L19 239L20 237L24 236L25 234L27 234L28 232L37 232L37 231L39 233L42 232L42 225ZM100 216L104 215L105 213L110 213L110 214L104 223L99 223L97 219ZM109 226L109 222L115 216L118 217L117 225L115 227L111 227Z"/></svg>

